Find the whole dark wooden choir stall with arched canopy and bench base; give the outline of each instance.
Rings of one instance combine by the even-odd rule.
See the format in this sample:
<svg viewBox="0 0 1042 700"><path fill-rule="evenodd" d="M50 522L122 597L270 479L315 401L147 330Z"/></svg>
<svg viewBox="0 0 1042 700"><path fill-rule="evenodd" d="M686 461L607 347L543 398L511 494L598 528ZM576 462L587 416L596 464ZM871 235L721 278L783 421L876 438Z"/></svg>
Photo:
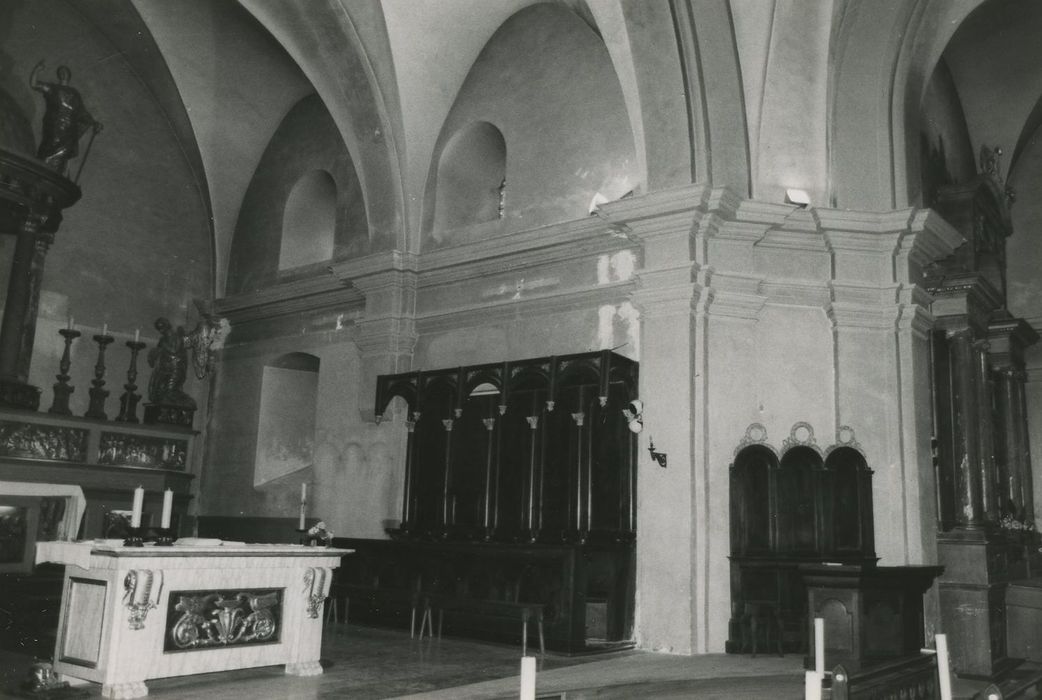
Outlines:
<svg viewBox="0 0 1042 700"><path fill-rule="evenodd" d="M569 653L628 643L637 373L602 351L378 377L377 416L408 433L402 518L391 541L334 541L356 552L332 593L351 619L431 610L503 642L536 620Z"/></svg>

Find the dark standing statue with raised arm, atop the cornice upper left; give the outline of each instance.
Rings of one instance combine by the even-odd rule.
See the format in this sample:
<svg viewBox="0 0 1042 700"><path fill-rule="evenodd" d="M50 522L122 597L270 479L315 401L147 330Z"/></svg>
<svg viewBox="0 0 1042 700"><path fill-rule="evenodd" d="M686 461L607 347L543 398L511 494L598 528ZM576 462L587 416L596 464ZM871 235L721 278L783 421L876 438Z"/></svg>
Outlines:
<svg viewBox="0 0 1042 700"><path fill-rule="evenodd" d="M70 158L79 153L79 140L84 133L93 130L94 134L101 131L101 123L91 116L83 105L79 91L69 84L72 71L68 66L58 66L57 82L44 82L40 72L44 69L41 60L29 74L29 86L44 96L46 111L44 113L43 135L36 157L49 168L64 175ZM94 135L91 136L91 143ZM88 146L90 150L90 145ZM86 157L85 154L83 156ZM82 170L82 166L80 167Z"/></svg>

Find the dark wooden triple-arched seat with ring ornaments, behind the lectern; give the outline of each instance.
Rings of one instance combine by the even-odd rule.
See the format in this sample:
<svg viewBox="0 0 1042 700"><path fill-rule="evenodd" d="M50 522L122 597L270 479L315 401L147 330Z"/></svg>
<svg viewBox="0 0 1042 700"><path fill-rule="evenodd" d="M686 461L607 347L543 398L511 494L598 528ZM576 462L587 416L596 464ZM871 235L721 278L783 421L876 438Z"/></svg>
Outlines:
<svg viewBox="0 0 1042 700"><path fill-rule="evenodd" d="M730 468L731 618L727 651L752 648L769 629L786 651L807 649L807 589L799 567L876 560L872 472L853 445L822 452L788 444L780 455L758 443ZM761 649L765 641L760 641Z"/></svg>

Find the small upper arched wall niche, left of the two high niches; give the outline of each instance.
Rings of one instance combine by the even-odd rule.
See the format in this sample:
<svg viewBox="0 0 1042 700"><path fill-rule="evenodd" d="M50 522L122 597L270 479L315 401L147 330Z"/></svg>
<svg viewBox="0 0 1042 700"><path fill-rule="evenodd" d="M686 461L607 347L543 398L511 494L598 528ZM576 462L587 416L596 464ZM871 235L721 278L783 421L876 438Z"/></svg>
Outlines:
<svg viewBox="0 0 1042 700"><path fill-rule="evenodd" d="M324 170L304 173L286 198L279 271L324 262L333 256L337 183Z"/></svg>

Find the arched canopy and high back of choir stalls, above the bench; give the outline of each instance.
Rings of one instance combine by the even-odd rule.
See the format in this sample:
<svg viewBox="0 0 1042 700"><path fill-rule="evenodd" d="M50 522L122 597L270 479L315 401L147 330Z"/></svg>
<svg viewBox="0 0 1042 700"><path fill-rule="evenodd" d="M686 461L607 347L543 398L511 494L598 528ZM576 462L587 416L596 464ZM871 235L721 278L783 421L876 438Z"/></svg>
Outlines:
<svg viewBox="0 0 1042 700"><path fill-rule="evenodd" d="M395 536L630 542L637 364L609 351L377 378L376 415L408 402Z"/></svg>

